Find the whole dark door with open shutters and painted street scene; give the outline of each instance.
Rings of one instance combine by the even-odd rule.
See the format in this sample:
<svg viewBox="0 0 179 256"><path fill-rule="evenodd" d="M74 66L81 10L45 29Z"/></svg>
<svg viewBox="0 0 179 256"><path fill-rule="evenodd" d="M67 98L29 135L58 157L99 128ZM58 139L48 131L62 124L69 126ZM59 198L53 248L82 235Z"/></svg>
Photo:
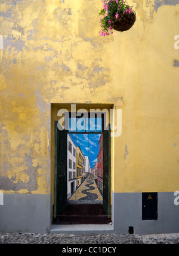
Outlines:
<svg viewBox="0 0 179 256"><path fill-rule="evenodd" d="M103 118L84 122L90 129L72 131L69 118L69 129L60 131L55 121L53 224L111 220L110 130L104 129Z"/></svg>

